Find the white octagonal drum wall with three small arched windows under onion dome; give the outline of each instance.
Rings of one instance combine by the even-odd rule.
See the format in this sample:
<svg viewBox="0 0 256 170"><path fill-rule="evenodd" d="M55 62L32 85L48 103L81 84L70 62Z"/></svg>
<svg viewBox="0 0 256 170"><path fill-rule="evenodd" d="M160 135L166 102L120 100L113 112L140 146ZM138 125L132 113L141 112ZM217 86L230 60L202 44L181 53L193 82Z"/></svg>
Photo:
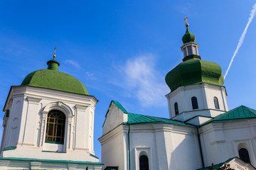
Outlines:
<svg viewBox="0 0 256 170"><path fill-rule="evenodd" d="M198 100L198 109L192 108L191 98L195 96ZM220 109L216 110L213 98L218 98ZM170 118L175 120L186 121L195 115L213 116L206 109L220 111L218 114L228 111L226 102L225 88L211 84L195 84L191 86L181 86L170 94L166 95L169 105ZM174 103L178 103L178 113L175 115ZM183 116L181 114L193 112L193 115Z"/></svg>

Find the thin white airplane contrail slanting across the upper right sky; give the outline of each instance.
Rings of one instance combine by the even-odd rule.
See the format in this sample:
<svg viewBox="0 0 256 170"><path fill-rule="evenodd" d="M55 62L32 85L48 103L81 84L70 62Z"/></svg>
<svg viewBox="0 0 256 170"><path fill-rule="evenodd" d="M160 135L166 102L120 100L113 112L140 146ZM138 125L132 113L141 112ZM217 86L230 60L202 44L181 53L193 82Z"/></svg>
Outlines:
<svg viewBox="0 0 256 170"><path fill-rule="evenodd" d="M227 76L228 71L230 70L230 67L231 67L231 65L232 65L232 63L233 63L233 60L234 60L234 58L235 58L235 55L238 54L238 50L240 49L240 47L241 47L241 45L242 45L242 42L243 42L243 40L245 39L245 34L247 33L247 29L248 29L248 27L250 26L250 23L252 22L252 19L255 17L255 13L256 13L256 3L252 6L252 10L250 11L250 18L248 18L248 22L247 22L247 24L246 24L246 26L245 26L245 30L242 32L242 35L241 35L241 37L240 37L240 39L239 39L238 46L236 47L235 52L234 52L234 54L233 54L233 57L232 57L232 59L231 59L231 61L230 61L230 64L228 65L228 69L227 69L227 71L225 72L224 79L225 79L225 77Z"/></svg>

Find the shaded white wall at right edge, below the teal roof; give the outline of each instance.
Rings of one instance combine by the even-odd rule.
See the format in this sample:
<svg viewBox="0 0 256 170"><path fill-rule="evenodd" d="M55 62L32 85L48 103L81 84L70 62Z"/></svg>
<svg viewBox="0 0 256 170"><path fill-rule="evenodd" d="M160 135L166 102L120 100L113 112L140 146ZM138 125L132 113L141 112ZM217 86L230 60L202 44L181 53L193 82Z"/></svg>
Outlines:
<svg viewBox="0 0 256 170"><path fill-rule="evenodd" d="M210 123L201 128L201 142L206 166L239 157L239 146L246 146L252 166L256 166L256 120Z"/></svg>

